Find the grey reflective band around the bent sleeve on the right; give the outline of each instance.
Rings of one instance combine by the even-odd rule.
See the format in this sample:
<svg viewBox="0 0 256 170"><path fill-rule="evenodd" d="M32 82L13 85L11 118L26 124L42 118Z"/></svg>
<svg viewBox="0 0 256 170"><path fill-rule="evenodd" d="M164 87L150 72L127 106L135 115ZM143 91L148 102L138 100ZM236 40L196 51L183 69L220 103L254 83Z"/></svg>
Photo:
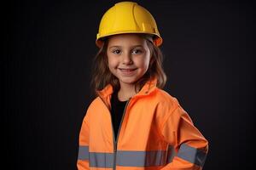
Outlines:
<svg viewBox="0 0 256 170"><path fill-rule="evenodd" d="M177 152L177 157L203 167L207 153L202 150L197 150L188 144L182 144Z"/></svg>

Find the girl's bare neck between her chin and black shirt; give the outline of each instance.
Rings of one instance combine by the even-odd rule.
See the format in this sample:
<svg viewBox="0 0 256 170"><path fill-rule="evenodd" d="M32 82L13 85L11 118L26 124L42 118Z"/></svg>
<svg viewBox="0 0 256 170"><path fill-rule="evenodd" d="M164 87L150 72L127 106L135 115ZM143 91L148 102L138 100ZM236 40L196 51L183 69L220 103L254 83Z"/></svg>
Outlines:
<svg viewBox="0 0 256 170"><path fill-rule="evenodd" d="M135 85L128 83L120 83L120 89L118 93L118 98L120 101L126 101L136 94Z"/></svg>

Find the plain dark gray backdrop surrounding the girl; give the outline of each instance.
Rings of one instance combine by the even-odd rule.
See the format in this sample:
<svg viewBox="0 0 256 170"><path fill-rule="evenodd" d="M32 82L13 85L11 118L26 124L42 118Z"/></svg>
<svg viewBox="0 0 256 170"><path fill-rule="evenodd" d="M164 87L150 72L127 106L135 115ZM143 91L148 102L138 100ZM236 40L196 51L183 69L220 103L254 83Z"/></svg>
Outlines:
<svg viewBox="0 0 256 170"><path fill-rule="evenodd" d="M2 5L3 161L8 169L76 169L93 99L91 60L102 14L117 1ZM166 91L209 140L205 168L247 169L255 144L253 4L137 1L164 39Z"/></svg>

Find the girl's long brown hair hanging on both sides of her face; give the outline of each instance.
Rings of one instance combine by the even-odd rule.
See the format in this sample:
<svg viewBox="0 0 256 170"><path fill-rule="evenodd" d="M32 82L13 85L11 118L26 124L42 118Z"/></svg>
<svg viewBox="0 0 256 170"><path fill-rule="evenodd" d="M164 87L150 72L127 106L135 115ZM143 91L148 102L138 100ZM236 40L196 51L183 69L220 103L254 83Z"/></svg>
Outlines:
<svg viewBox="0 0 256 170"><path fill-rule="evenodd" d="M140 89L150 79L155 77L157 79L157 87L164 88L166 85L166 73L162 68L163 54L160 48L156 47L153 42L145 38L151 59L148 65L148 71L136 82L136 89ZM91 85L96 90L102 90L108 84L113 86L114 90L119 90L119 80L114 77L111 71L108 69L108 39L103 42L102 48L99 49L98 53L94 58L92 81Z"/></svg>

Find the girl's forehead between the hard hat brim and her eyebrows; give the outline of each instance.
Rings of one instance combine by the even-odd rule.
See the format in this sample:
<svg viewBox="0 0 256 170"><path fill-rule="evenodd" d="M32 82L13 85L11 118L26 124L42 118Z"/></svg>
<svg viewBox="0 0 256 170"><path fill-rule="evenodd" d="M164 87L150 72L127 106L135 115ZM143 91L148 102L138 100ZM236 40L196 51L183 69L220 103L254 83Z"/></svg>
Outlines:
<svg viewBox="0 0 256 170"><path fill-rule="evenodd" d="M119 34L108 38L108 46L146 45L146 39L138 34Z"/></svg>

